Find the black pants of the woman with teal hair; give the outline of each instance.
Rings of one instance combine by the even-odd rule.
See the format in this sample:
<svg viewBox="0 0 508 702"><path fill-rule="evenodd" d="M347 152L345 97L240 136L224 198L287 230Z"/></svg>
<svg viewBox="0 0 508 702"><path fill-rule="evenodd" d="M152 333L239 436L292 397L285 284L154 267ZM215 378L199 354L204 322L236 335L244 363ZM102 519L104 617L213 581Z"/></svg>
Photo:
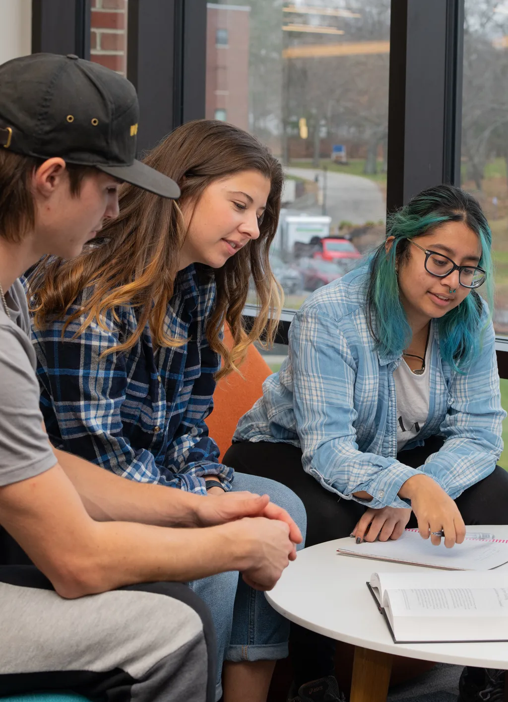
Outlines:
<svg viewBox="0 0 508 702"><path fill-rule="evenodd" d="M425 446L403 451L398 458L417 468L442 445L443 439L431 437ZM306 546L349 536L365 511L363 505L323 489L302 469L302 451L290 444L239 442L227 451L223 463L239 472L272 478L292 489L307 510ZM493 473L465 490L455 503L465 524L508 524L508 472L496 466ZM413 514L408 527L417 527ZM291 651L296 684L333 675L332 639L292 624Z"/></svg>

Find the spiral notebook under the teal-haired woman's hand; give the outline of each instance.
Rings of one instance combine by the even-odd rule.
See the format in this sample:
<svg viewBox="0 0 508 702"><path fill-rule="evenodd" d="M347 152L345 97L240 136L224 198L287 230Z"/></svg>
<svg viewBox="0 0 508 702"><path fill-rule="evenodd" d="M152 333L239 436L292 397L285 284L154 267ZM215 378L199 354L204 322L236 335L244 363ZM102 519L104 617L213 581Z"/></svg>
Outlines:
<svg viewBox="0 0 508 702"><path fill-rule="evenodd" d="M483 531L482 527L474 527ZM355 543L347 536L337 541L340 555L373 558L446 570L488 571L508 563L508 540L479 540L466 538L453 548L446 548L444 541L434 546L430 539L420 536L417 529L406 529L396 541Z"/></svg>

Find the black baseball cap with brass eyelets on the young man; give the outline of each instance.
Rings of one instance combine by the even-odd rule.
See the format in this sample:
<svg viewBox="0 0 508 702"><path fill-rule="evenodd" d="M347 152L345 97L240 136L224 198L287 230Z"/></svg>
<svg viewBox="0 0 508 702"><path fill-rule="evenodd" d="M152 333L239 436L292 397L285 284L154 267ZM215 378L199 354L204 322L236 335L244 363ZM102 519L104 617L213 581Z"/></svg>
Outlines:
<svg viewBox="0 0 508 702"><path fill-rule="evenodd" d="M127 79L98 63L34 53L0 65L0 148L95 166L162 197L174 180L135 159L139 105Z"/></svg>

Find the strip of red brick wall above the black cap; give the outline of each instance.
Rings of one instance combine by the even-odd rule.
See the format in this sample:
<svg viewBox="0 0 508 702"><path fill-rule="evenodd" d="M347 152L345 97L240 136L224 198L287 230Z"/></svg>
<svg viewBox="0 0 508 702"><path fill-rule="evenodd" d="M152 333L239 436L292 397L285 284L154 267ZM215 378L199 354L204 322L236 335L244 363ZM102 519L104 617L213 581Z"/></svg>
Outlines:
<svg viewBox="0 0 508 702"><path fill-rule="evenodd" d="M107 68L127 73L128 0L92 0L90 58Z"/></svg>

